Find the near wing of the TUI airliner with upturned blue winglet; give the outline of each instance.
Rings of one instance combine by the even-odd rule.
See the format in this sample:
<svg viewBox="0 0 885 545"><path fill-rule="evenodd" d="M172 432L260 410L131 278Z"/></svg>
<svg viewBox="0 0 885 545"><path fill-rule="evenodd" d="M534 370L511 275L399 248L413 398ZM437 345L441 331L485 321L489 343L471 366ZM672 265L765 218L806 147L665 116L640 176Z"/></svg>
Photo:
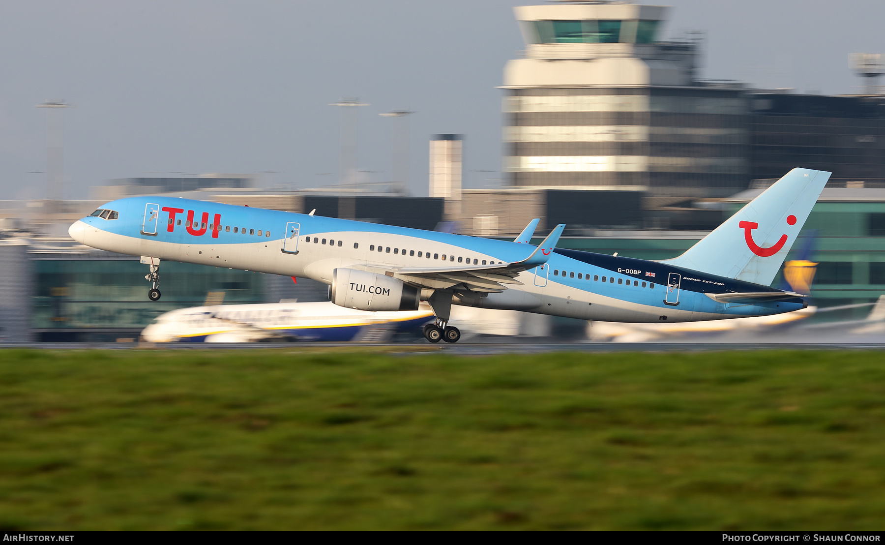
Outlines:
<svg viewBox="0 0 885 545"><path fill-rule="evenodd" d="M513 278L519 273L547 263L565 227L566 224L556 226L528 257L512 263L428 267L366 265L360 268L383 271L388 276L422 288L445 289L464 284L471 291L500 292L506 289L506 284L521 285L522 282Z"/></svg>

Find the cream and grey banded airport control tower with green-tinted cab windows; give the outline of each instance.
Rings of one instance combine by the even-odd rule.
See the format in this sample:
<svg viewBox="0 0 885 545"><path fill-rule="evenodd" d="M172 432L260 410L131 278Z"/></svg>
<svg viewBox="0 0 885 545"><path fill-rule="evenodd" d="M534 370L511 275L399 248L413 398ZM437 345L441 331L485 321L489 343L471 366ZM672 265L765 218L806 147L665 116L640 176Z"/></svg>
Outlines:
<svg viewBox="0 0 885 545"><path fill-rule="evenodd" d="M747 187L748 99L738 85L698 80L698 41L660 40L666 7L514 10L526 50L504 68L512 186L687 197Z"/></svg>

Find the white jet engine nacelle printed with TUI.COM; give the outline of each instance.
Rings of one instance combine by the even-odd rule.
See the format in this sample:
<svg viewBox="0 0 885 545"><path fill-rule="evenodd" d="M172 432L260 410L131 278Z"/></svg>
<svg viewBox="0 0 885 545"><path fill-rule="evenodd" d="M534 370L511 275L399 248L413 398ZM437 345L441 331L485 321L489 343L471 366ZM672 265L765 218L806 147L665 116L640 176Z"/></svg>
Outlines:
<svg viewBox="0 0 885 545"><path fill-rule="evenodd" d="M360 311L417 311L420 290L384 274L335 269L331 299L338 306Z"/></svg>

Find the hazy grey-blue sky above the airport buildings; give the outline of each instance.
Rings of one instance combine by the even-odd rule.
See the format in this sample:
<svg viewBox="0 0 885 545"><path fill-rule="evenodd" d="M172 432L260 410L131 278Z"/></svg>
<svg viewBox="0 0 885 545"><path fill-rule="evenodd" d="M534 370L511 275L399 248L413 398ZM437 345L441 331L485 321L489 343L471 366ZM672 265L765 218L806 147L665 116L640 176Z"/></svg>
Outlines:
<svg viewBox="0 0 885 545"><path fill-rule="evenodd" d="M410 119L410 189L427 139L466 134L466 186L501 177L501 74L522 41L512 0L150 0L0 4L0 200L45 191L44 100L65 99L65 196L104 180L258 173L266 186L337 181L345 96L358 167L389 180ZM885 52L881 0L673 0L663 37L706 33L702 77L857 92L850 52ZM490 173L472 171L492 171ZM334 174L324 174L334 173Z"/></svg>

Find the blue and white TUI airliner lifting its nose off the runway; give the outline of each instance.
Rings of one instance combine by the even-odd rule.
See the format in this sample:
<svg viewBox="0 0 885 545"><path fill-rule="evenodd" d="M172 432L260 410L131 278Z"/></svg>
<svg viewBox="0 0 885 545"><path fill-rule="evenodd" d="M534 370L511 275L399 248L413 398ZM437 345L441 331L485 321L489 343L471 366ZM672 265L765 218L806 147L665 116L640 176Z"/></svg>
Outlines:
<svg viewBox="0 0 885 545"><path fill-rule="evenodd" d="M105 204L69 229L97 249L141 256L148 296L162 260L319 280L332 302L363 311L433 308L430 342L457 342L452 304L614 322L767 316L806 306L770 288L830 173L794 168L679 257L646 261L537 246L538 220L513 242L178 197Z"/></svg>

